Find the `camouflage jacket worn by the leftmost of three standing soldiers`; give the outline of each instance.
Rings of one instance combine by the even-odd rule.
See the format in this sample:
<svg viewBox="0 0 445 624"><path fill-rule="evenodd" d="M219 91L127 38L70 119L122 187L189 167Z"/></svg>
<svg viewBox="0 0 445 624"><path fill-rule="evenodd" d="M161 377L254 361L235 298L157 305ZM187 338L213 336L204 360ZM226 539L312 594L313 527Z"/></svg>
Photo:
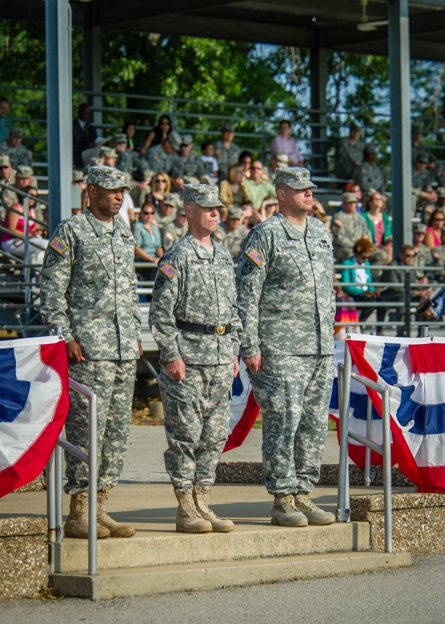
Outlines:
<svg viewBox="0 0 445 624"><path fill-rule="evenodd" d="M120 217L114 231L86 210L61 221L42 265L41 315L74 338L86 359L138 359L140 309L134 238Z"/></svg>

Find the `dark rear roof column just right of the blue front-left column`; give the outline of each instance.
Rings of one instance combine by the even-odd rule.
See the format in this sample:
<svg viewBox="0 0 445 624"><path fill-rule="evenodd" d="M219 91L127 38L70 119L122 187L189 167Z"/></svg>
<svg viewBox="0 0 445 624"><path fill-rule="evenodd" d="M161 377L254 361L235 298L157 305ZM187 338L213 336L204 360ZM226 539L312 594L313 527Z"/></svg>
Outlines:
<svg viewBox="0 0 445 624"><path fill-rule="evenodd" d="M82 40L82 68L83 91L85 101L92 108L92 124L102 125L102 97L92 93L102 92L102 56L101 56L101 29L93 25L92 4L84 6ZM99 132L99 134L101 134Z"/></svg>

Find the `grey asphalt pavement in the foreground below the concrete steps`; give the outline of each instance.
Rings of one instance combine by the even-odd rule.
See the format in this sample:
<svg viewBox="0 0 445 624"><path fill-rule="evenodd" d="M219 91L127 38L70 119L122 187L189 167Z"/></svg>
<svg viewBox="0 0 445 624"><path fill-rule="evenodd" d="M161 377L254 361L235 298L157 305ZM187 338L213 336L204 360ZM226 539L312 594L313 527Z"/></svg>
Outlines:
<svg viewBox="0 0 445 624"><path fill-rule="evenodd" d="M89 602L15 600L8 624L443 624L445 555L391 572Z"/></svg>

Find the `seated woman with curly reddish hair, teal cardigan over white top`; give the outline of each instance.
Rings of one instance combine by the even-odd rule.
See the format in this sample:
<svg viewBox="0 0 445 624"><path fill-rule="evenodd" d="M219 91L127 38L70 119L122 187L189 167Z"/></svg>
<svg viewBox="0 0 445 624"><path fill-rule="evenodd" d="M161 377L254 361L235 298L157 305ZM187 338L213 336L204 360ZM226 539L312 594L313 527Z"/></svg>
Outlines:
<svg viewBox="0 0 445 624"><path fill-rule="evenodd" d="M353 297L356 302L369 302L377 297L374 286L369 285L372 281L371 264L369 258L373 252L374 246L369 238L359 238L355 241L353 247L354 255L350 258L343 260L342 265L346 268L341 270L341 281L345 284L349 282L355 282L353 286L341 286L343 292ZM362 308L359 314L359 320L365 321L373 313L374 308ZM378 316L379 316L378 309ZM385 309L380 313L382 318L385 319Z"/></svg>

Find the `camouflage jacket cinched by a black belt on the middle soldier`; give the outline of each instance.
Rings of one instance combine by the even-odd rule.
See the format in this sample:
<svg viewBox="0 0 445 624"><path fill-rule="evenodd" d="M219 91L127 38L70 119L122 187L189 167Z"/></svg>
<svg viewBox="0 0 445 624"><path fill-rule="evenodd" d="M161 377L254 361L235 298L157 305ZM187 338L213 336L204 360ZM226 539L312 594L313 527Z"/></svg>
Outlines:
<svg viewBox="0 0 445 624"><path fill-rule="evenodd" d="M202 366L233 362L241 322L229 252L216 242L207 249L187 232L164 253L158 267L148 322L161 363L180 357L186 364ZM186 331L176 327L176 320L230 323L232 331L222 336Z"/></svg>

